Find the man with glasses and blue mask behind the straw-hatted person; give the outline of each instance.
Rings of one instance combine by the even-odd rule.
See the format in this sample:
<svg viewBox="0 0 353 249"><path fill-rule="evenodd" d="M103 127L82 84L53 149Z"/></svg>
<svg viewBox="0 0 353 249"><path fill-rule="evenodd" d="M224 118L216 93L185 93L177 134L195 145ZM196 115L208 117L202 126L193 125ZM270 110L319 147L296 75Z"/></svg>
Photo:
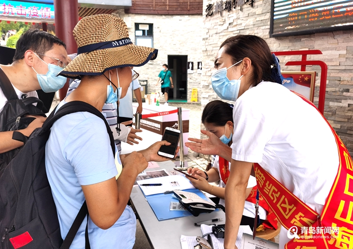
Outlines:
<svg viewBox="0 0 353 249"><path fill-rule="evenodd" d="M66 78L56 74L68 64L65 43L56 36L38 29L28 30L16 44L11 65L0 65L0 80L10 81L18 98L38 97L36 90L55 92L66 83ZM0 114L8 102L0 89ZM34 116L27 128L18 130L25 136L41 127L44 117ZM12 139L14 131L0 132L0 154L21 147L23 142Z"/></svg>

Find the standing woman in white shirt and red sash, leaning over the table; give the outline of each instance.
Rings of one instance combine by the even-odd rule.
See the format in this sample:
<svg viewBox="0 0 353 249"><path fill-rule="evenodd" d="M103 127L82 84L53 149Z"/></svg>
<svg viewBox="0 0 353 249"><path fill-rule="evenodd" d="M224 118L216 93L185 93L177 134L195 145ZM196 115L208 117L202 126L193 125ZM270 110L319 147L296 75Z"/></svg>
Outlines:
<svg viewBox="0 0 353 249"><path fill-rule="evenodd" d="M338 179L337 172L343 172L346 168L341 167L344 157L340 160L339 156L347 154L346 148L343 143L336 143L339 138L315 106L280 84L278 60L271 55L267 43L254 35L229 37L221 44L214 65L217 69L211 76L214 91L223 99L235 101L232 151L230 154L210 133L207 134L210 138L194 139L197 144L189 143L188 146L198 147L199 150L196 151L200 153L207 151L231 159L231 172L225 188L227 212L224 248L234 248L253 163L257 163L262 170L258 171L260 168L257 168L255 171L258 186L261 183L265 186L265 192L266 187L267 192L270 191L266 201L269 205L276 202L270 207L275 213L275 209L278 209L277 218L283 218L279 219L282 224L280 248L284 248L287 242L299 247L304 245L293 241L295 236L287 233L287 229L297 229L300 234L303 227L323 228L325 225L337 226L340 231L352 231L353 222L339 225L343 224L343 219L334 220L342 211L338 213L338 205L331 205L335 198L338 198L336 200L339 204L340 200L350 200L351 196L343 197L343 190L340 190L342 193L337 193L335 198L327 198L329 194L332 195L331 187L334 182L335 187L345 189L345 177L344 181L335 179ZM341 147L345 151L339 154L337 148L341 150ZM347 165L351 164L349 156L345 161ZM269 175L265 177L261 172ZM346 172L344 174L348 177ZM272 183L281 186L281 191L273 188ZM285 204L283 200L288 202ZM291 205L293 200L297 204ZM331 204L325 206L326 202ZM280 214L282 211L284 216ZM313 218L306 218L310 215ZM327 217L332 218L327 220ZM288 223L293 226L286 225ZM314 243L305 245L328 248L327 244L338 241L331 237L324 243L325 239L317 239Z"/></svg>

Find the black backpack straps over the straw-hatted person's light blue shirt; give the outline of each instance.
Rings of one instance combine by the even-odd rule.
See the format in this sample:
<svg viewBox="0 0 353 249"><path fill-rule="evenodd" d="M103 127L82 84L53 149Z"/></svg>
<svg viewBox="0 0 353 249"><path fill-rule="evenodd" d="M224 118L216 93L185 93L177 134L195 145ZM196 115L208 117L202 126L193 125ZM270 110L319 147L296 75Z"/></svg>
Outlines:
<svg viewBox="0 0 353 249"><path fill-rule="evenodd" d="M62 106L55 113L56 109L57 109L57 106L54 109L54 111L51 112L49 117L45 120L45 122L43 124L43 128L39 134L49 130L56 120L62 118L65 115L68 115L70 113L76 113L76 112L89 112L89 113L92 113L92 114L98 116L99 118L101 118L104 121L107 132L109 134L111 149L112 149L113 155L115 157L115 142L114 142L114 138L113 138L113 134L111 132L110 126L109 126L108 122L106 121L105 117L103 116L103 114L101 112L99 112L95 107L93 107L85 102L82 102L82 101L72 101L72 102L69 102L69 103L65 104L64 106ZM88 238L88 215L89 214L88 214L88 209L87 209L87 203L85 201L83 203L79 213L77 214L68 234L66 235L65 240L64 240L63 244L61 245L60 249L69 249L69 247L72 244L72 241L74 240L74 238L77 234L77 231L79 230L86 215L87 215L87 224L86 224L86 231L85 231L85 241L86 241L85 248L86 249L90 248L89 238Z"/></svg>

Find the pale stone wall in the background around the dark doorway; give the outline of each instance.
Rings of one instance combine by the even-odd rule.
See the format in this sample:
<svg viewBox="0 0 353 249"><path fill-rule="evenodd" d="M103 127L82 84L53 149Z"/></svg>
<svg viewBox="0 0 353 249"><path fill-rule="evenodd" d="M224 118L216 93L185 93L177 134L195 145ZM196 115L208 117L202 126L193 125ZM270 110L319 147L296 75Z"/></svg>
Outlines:
<svg viewBox="0 0 353 249"><path fill-rule="evenodd" d="M125 14L119 10L115 14L120 18L131 18L129 35L135 43L135 23L153 23L153 45L158 49L158 57L146 65L136 68L139 79L148 80L148 93L160 91L156 86L162 65L167 64L168 55L187 55L188 62L194 62L194 73L188 75L188 102L192 88L199 88L200 101L201 74L197 73L197 62L202 61L203 17L201 15L145 15ZM162 99L163 100L163 99Z"/></svg>

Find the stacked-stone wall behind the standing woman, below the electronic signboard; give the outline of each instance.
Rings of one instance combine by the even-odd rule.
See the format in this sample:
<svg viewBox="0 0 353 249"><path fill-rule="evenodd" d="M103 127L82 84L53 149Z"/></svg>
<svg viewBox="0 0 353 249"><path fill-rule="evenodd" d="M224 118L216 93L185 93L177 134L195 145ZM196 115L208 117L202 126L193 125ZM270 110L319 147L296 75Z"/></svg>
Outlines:
<svg viewBox="0 0 353 249"><path fill-rule="evenodd" d="M206 18L206 6L215 0L204 0L204 32L202 35L203 76L202 109L216 98L211 87L211 70L220 44L229 36L253 34L264 38L271 51L291 51L320 49L323 55L308 56L308 60L324 61L328 65L324 116L353 155L353 30L297 35L287 37L269 37L270 0L255 0L254 7L243 7L243 11L232 10L213 13ZM300 56L279 57L283 71L300 71L300 67L285 67L288 61L300 61ZM306 71L316 71L316 89L314 103L318 104L320 86L319 66L308 66Z"/></svg>

